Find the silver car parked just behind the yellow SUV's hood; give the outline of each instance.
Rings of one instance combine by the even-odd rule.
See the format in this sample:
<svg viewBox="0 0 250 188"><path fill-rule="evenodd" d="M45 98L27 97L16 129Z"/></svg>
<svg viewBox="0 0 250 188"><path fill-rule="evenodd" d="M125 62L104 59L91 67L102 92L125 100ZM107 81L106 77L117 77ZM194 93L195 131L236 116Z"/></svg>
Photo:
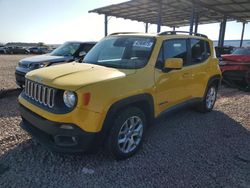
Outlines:
<svg viewBox="0 0 250 188"><path fill-rule="evenodd" d="M31 70L75 60L80 61L95 44L96 42L66 42L49 54L22 59L16 67L16 83L23 87L24 77Z"/></svg>

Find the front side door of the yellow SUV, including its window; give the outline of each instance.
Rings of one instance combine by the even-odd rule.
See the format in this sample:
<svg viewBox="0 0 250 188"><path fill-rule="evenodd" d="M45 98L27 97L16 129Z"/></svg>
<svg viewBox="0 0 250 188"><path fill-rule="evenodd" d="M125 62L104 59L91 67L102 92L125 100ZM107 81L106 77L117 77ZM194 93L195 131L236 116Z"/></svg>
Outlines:
<svg viewBox="0 0 250 188"><path fill-rule="evenodd" d="M168 58L182 58L184 66L180 70L164 72L163 64ZM186 39L163 42L155 71L156 100L160 112L192 97L190 90L192 74L190 69L185 67L188 58Z"/></svg>

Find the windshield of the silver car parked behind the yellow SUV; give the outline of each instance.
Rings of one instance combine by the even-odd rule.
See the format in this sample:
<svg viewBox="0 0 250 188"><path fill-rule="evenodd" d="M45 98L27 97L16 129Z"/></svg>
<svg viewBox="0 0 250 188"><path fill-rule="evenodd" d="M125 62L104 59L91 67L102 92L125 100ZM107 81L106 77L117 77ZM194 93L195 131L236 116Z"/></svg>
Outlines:
<svg viewBox="0 0 250 188"><path fill-rule="evenodd" d="M80 43L66 42L51 52L55 56L72 56L79 49Z"/></svg>

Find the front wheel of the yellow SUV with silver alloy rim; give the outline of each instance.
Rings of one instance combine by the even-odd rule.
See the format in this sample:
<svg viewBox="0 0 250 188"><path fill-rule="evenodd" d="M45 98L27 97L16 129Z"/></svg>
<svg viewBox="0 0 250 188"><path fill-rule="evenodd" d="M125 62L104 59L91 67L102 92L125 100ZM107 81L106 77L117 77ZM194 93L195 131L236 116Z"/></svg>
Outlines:
<svg viewBox="0 0 250 188"><path fill-rule="evenodd" d="M116 116L107 147L117 160L129 158L140 149L146 123L144 113L136 107L126 108Z"/></svg>

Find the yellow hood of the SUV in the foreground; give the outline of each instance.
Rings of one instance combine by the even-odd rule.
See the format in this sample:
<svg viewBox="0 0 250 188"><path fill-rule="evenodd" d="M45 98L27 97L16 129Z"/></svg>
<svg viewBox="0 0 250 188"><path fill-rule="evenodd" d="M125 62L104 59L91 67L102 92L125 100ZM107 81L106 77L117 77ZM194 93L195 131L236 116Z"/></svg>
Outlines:
<svg viewBox="0 0 250 188"><path fill-rule="evenodd" d="M51 87L75 91L86 85L122 78L135 72L134 69L73 62L31 71L26 74L26 78Z"/></svg>

